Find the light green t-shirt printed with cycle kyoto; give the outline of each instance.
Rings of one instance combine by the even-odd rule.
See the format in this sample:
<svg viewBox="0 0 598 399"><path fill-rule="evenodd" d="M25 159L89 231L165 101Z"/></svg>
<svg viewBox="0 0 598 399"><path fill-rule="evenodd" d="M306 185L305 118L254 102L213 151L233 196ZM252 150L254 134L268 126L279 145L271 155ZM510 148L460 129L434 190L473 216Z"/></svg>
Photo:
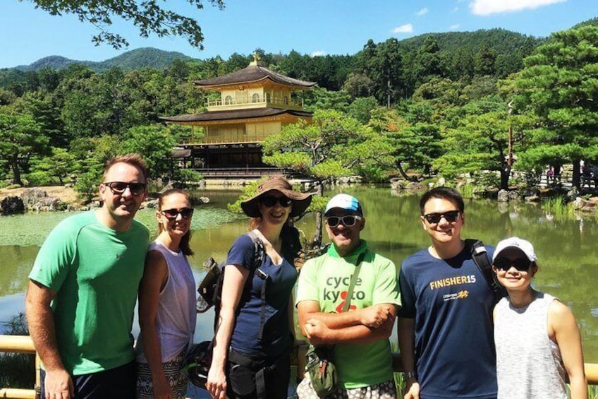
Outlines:
<svg viewBox="0 0 598 399"><path fill-rule="evenodd" d="M305 262L299 275L296 302L317 301L320 311L340 313L355 263L363 251L367 251L367 254L355 282L350 310L375 304L400 306L394 263L368 251L364 240L358 249L345 258L338 256L334 246L330 246L327 254ZM368 344L336 344L334 365L338 371L338 379L346 389L371 386L393 378L389 340L377 340Z"/></svg>

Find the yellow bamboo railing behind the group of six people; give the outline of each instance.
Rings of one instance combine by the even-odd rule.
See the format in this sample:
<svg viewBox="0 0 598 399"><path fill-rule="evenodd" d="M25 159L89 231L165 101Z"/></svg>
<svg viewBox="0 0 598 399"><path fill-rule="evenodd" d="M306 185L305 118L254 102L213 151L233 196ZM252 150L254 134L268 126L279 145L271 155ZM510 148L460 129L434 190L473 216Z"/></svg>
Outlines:
<svg viewBox="0 0 598 399"><path fill-rule="evenodd" d="M297 358L298 378L303 377L305 370L305 352L307 343L302 340L295 342ZM39 387L39 357L35 352L35 347L29 335L0 335L0 352L20 352L35 353L35 386ZM393 370L403 371L403 362L400 353L393 353ZM598 364L586 363L585 376L589 385L598 385ZM37 399L39 398L38 389L18 389L18 388L0 388L0 398L11 399Z"/></svg>

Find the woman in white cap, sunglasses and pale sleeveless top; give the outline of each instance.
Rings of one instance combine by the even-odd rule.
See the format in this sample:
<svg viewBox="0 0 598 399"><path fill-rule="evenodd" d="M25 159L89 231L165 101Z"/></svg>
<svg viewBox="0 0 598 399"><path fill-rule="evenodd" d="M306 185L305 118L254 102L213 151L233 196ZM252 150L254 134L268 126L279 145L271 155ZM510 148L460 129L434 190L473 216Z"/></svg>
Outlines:
<svg viewBox="0 0 598 399"><path fill-rule="evenodd" d="M494 308L499 399L587 399L581 337L570 309L534 290L537 257L530 242L499 242L492 268L508 292Z"/></svg>

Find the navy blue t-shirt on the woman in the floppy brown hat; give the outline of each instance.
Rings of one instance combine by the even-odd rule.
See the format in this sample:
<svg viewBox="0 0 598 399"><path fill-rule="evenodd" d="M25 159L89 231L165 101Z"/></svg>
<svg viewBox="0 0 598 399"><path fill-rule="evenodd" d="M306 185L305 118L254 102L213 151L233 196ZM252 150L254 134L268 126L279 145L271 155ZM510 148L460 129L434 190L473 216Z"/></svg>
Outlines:
<svg viewBox="0 0 598 399"><path fill-rule="evenodd" d="M252 270L255 246L248 234L238 237L228 251L227 265L243 266ZM260 270L269 275L266 280L266 321L262 339L262 285L264 280L250 274L251 286L245 285L237 306L231 347L237 352L260 357L277 357L288 349L288 301L297 280L291 249L283 243L283 261L275 265L266 254Z"/></svg>

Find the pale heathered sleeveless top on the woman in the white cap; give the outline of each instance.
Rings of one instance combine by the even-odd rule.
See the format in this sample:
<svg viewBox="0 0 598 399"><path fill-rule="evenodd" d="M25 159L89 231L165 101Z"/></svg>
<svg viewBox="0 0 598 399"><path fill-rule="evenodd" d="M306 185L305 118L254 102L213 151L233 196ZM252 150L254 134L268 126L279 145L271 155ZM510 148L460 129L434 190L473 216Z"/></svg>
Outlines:
<svg viewBox="0 0 598 399"><path fill-rule="evenodd" d="M508 298L496 304L494 343L499 399L567 398L561 350L548 336L549 294L525 308L511 307Z"/></svg>

